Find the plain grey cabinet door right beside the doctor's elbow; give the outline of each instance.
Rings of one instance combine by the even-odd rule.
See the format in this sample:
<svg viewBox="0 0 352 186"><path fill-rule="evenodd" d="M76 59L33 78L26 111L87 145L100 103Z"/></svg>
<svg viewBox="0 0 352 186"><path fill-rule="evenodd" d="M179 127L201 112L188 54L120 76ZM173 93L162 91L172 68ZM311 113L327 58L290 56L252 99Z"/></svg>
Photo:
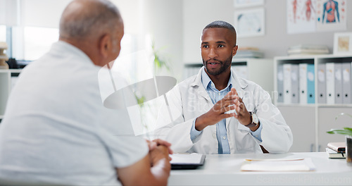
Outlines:
<svg viewBox="0 0 352 186"><path fill-rule="evenodd" d="M315 107L277 106L292 130L294 144L290 152L315 151Z"/></svg>

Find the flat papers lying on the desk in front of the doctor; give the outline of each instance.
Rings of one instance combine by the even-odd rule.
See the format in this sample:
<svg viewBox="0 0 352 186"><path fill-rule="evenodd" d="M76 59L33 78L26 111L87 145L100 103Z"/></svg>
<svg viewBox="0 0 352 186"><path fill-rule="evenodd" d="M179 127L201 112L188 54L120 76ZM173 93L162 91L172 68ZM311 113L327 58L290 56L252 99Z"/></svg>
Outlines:
<svg viewBox="0 0 352 186"><path fill-rule="evenodd" d="M241 171L315 171L315 166L310 158L246 159Z"/></svg>

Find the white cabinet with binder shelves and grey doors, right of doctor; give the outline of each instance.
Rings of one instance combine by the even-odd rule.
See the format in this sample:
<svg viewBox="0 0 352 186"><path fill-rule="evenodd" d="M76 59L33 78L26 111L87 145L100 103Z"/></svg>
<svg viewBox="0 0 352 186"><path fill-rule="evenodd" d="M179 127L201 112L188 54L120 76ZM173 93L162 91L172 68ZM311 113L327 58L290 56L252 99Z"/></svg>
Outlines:
<svg viewBox="0 0 352 186"><path fill-rule="evenodd" d="M344 142L344 135L329 135L327 131L332 128L344 128L347 126L352 127L352 118L348 116L340 116L337 120L335 117L339 113L352 113L352 104L349 101L342 102L324 102L318 100L322 96L319 91L324 90L326 93L327 87L323 87L320 80L321 73L318 72L320 64L333 63L335 64L350 64L352 56L334 56L334 55L318 55L318 56L278 56L274 58L274 79L275 79L275 97L274 102L277 108L282 112L287 124L290 126L294 135L294 144L292 145L291 152L299 151L325 151L328 142ZM313 104L303 103L284 103L280 100L279 89L280 74L278 70L284 64L300 64L308 63L314 65L314 87L315 87L315 101ZM351 74L351 68L349 68ZM327 75L323 75L326 85ZM349 77L351 83L351 77ZM329 82L328 82L329 84ZM330 85L328 85L330 86ZM348 89L351 88L349 85ZM324 88L324 89L322 89ZM345 87L346 88L346 87ZM351 89L350 89L351 91ZM301 93L301 92L300 92ZM326 95L327 96L327 95ZM337 94L336 94L337 96ZM339 95L345 96L345 95ZM349 95L351 97L351 95Z"/></svg>

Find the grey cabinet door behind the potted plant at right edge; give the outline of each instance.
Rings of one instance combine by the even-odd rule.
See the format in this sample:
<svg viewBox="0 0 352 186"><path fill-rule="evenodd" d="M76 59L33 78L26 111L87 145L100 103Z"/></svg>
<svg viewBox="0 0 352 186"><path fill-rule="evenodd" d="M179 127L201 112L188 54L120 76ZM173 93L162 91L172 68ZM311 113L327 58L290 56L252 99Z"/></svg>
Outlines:
<svg viewBox="0 0 352 186"><path fill-rule="evenodd" d="M345 142L345 136L334 134L327 134L327 131L332 128L342 129L344 127L352 128L352 118L349 116L339 116L335 120L339 113L352 114L352 108L329 108L323 107L318 109L318 151L325 151L328 142Z"/></svg>

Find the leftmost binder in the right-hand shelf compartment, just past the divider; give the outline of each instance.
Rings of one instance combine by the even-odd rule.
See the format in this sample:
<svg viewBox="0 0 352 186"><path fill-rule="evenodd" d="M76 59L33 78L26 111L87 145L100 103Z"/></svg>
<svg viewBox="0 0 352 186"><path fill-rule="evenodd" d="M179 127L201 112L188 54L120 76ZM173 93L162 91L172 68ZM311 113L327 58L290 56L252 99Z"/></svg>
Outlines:
<svg viewBox="0 0 352 186"><path fill-rule="evenodd" d="M326 104L327 103L327 97L326 97L326 93L327 93L327 90L326 90L326 83L325 83L325 71L326 71L326 67L325 67L325 63L320 63L318 64L317 66L317 78L318 78L318 82L317 82L317 85L318 85L318 104Z"/></svg>

